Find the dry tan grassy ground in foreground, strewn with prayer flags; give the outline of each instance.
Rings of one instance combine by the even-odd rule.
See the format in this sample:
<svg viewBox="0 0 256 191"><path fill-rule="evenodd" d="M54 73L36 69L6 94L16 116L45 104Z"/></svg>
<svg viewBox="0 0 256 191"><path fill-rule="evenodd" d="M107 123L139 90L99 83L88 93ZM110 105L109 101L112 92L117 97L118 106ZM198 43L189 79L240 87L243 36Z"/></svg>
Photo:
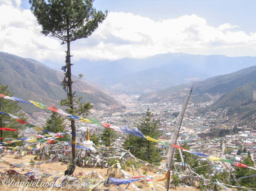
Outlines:
<svg viewBox="0 0 256 191"><path fill-rule="evenodd" d="M6 155L4 157L2 157L2 159L6 162L10 162L10 163L14 163L14 164L19 164L21 162L23 163L29 163L32 159L34 159L35 156L33 155L27 155L24 157L20 157L17 158L17 156L15 155ZM38 162L38 161L35 161ZM41 161L40 161L41 162ZM0 172L1 173L5 173L6 171L8 171L9 169L14 169L16 172L19 172L21 174L25 174L27 172L30 172L32 168L37 168L37 169L41 169L42 171L40 172L45 172L45 173L50 173L50 174L56 174L57 172L63 173L64 176L64 171L66 171L67 169L67 164L63 164L62 162L54 162L54 163L43 163L40 164L40 166L37 166L36 164L34 165L26 165L23 166L22 168L11 168L10 165L1 162L0 163ZM105 178L105 180L107 180L107 178L109 177L109 174L107 174L107 170L108 168L85 168L85 167L76 167L74 175L77 175L78 173L85 173L85 172L91 172L91 171L96 171L100 176L102 176L103 178ZM53 172L55 171L55 172ZM165 173L163 172L162 174L158 175L156 173L156 169L153 169L151 167L147 167L144 166L140 169L141 172L147 171L147 175L151 176L151 175L157 175L156 177L153 178L153 185L154 185L154 189L158 190L158 191L165 191L166 189L157 186L158 184L161 186L164 186L165 181L159 181L157 182L157 180L160 180L162 178L165 177ZM126 168L126 172L129 173L130 175L133 175L133 171L132 169ZM140 173L140 175L142 175ZM113 174L112 177L115 178L120 178L123 179L123 175L120 174L119 170L117 169ZM139 173L137 171L134 170L134 175L133 176L139 176ZM15 177L13 176L7 176L7 175L3 175L1 174L1 180L0 180L0 190L3 191L18 191L18 190L27 190L27 191L33 191L33 190L37 190L37 191L44 191L44 190L49 190L49 187L23 187L23 188L19 188L19 187L12 187L12 186L8 186L8 185L2 185L2 181L4 180L4 178L10 178L15 179ZM17 178L17 177L16 177ZM16 180L16 181L23 181L23 180ZM148 184L146 183L145 180L142 181L136 181L134 182L134 185L139 187L141 190L143 191L151 191L152 188L148 187ZM127 185L120 185L120 187L122 188L126 188ZM105 187L102 186L100 189L107 189L109 188L110 191L114 191L116 190L114 187ZM74 188L74 187L70 187L70 188L52 188L51 190L56 191L56 190L61 190L61 191L72 191L72 190L80 190L80 191L84 191L86 190L85 188ZM128 191L134 191L135 189L129 185L128 188L126 188L126 190ZM175 190L175 187L170 186L170 191ZM183 186L179 186L176 187L176 190L179 191L198 191L199 189L195 188L195 187L183 187Z"/></svg>

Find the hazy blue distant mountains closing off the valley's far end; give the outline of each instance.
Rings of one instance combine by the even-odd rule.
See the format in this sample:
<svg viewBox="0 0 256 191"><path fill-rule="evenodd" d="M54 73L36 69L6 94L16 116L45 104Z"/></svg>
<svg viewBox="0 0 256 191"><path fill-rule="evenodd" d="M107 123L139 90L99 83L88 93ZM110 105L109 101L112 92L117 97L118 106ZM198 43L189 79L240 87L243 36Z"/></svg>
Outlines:
<svg viewBox="0 0 256 191"><path fill-rule="evenodd" d="M116 92L143 95L254 66L256 57L166 53L112 62L82 59L76 64L75 75L82 73L85 79Z"/></svg>

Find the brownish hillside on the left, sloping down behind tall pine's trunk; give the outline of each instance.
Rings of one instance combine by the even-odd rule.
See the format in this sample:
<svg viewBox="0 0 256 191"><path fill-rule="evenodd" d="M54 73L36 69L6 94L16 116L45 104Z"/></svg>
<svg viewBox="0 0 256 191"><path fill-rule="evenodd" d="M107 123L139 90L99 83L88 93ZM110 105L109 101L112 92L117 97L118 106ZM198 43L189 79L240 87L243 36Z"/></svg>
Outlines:
<svg viewBox="0 0 256 191"><path fill-rule="evenodd" d="M23 100L33 100L46 105L57 105L66 98L66 92L60 85L63 80L63 72L53 70L43 64L38 64L32 59L21 58L13 54L0 52L0 80L8 85L15 97ZM73 81L75 77L73 77ZM82 96L82 102L104 103L123 107L113 97L96 90L84 81L73 83L73 91L76 96ZM22 109L26 113L33 113L36 107L23 104Z"/></svg>

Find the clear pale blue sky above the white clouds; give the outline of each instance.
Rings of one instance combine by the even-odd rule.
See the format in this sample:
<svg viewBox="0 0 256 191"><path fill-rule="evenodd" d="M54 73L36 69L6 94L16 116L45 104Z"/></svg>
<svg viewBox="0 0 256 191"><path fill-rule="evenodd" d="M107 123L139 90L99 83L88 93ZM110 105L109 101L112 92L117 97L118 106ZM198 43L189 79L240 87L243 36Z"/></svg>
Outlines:
<svg viewBox="0 0 256 191"><path fill-rule="evenodd" d="M28 0L22 0L21 7L30 9ZM239 25L246 33L256 31L255 0L95 0L94 7L133 13L155 21L195 14L214 27L230 23Z"/></svg>

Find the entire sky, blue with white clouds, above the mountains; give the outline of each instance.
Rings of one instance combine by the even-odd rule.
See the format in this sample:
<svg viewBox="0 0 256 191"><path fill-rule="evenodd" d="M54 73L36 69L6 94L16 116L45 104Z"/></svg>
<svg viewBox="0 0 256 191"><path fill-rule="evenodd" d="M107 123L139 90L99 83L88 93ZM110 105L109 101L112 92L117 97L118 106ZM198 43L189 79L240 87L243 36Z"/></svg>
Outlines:
<svg viewBox="0 0 256 191"><path fill-rule="evenodd" d="M108 10L107 19L72 44L75 61L167 52L256 56L255 0L95 0L94 7ZM28 0L0 0L0 51L64 60L66 47L40 34L29 9Z"/></svg>

